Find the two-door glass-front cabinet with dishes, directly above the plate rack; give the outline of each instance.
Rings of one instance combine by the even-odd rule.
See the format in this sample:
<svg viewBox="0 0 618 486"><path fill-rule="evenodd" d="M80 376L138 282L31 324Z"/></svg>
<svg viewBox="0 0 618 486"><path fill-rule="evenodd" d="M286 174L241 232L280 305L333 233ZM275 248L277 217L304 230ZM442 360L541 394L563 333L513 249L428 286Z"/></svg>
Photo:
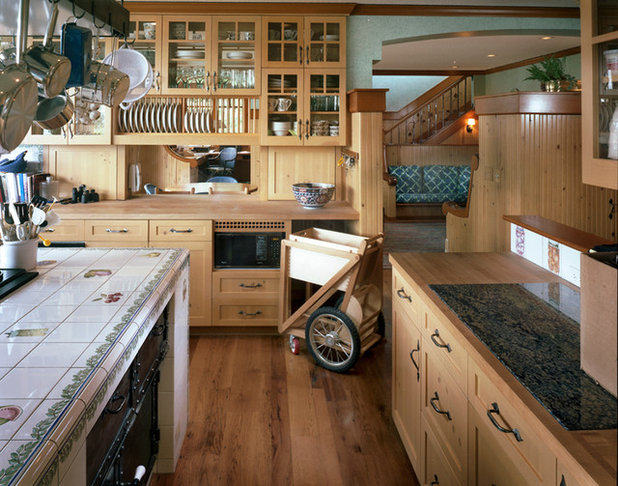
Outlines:
<svg viewBox="0 0 618 486"><path fill-rule="evenodd" d="M164 17L164 94L259 92L257 17Z"/></svg>

